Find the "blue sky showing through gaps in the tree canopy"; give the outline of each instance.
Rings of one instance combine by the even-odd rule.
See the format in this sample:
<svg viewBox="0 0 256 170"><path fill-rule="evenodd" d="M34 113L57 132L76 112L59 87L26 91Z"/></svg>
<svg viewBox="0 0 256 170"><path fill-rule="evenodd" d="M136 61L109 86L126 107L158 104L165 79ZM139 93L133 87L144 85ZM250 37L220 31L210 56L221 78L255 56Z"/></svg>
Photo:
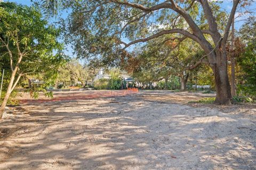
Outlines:
<svg viewBox="0 0 256 170"><path fill-rule="evenodd" d="M215 1L215 0L211 0L211 1ZM4 0L4 2L7 2L7 0ZM9 2L16 2L18 4L23 4L23 5L31 5L31 1L30 0L9 0ZM225 0L223 1L223 3L221 4L221 7L223 10L226 10L227 12L229 12L232 8L233 5L233 0ZM250 7L250 10L254 10L254 12L256 12L256 3L253 3ZM66 18L68 15L67 11L62 11L60 16L62 18ZM245 13L239 13L239 11L236 13L236 23L235 23L235 28L239 29L239 27L241 27L241 25L244 23L244 19L247 19L249 17L249 15L245 14ZM54 22L55 19L51 18L50 22ZM129 43L129 41L127 39L124 39L123 41L125 41L125 43ZM66 54L73 56L72 54L73 50L71 49L70 46L67 46L67 50L66 50ZM82 62L82 61L81 61Z"/></svg>

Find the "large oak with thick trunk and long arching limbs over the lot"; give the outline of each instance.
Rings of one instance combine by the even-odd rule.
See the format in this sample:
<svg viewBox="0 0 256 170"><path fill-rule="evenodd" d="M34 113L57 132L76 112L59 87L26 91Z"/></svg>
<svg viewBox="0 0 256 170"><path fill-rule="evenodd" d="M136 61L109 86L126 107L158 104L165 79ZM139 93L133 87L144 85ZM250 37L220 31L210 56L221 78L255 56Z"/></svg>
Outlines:
<svg viewBox="0 0 256 170"><path fill-rule="evenodd" d="M209 64L214 72L215 102L230 104L226 46L231 23L241 2L233 1L225 20L216 2L207 0L67 1L65 4L73 8L73 12L63 23L67 39L78 56L101 55L107 62L118 59L121 48L129 49L164 35L190 38L202 47L206 57L200 58L195 66ZM209 36L211 39L206 38Z"/></svg>

